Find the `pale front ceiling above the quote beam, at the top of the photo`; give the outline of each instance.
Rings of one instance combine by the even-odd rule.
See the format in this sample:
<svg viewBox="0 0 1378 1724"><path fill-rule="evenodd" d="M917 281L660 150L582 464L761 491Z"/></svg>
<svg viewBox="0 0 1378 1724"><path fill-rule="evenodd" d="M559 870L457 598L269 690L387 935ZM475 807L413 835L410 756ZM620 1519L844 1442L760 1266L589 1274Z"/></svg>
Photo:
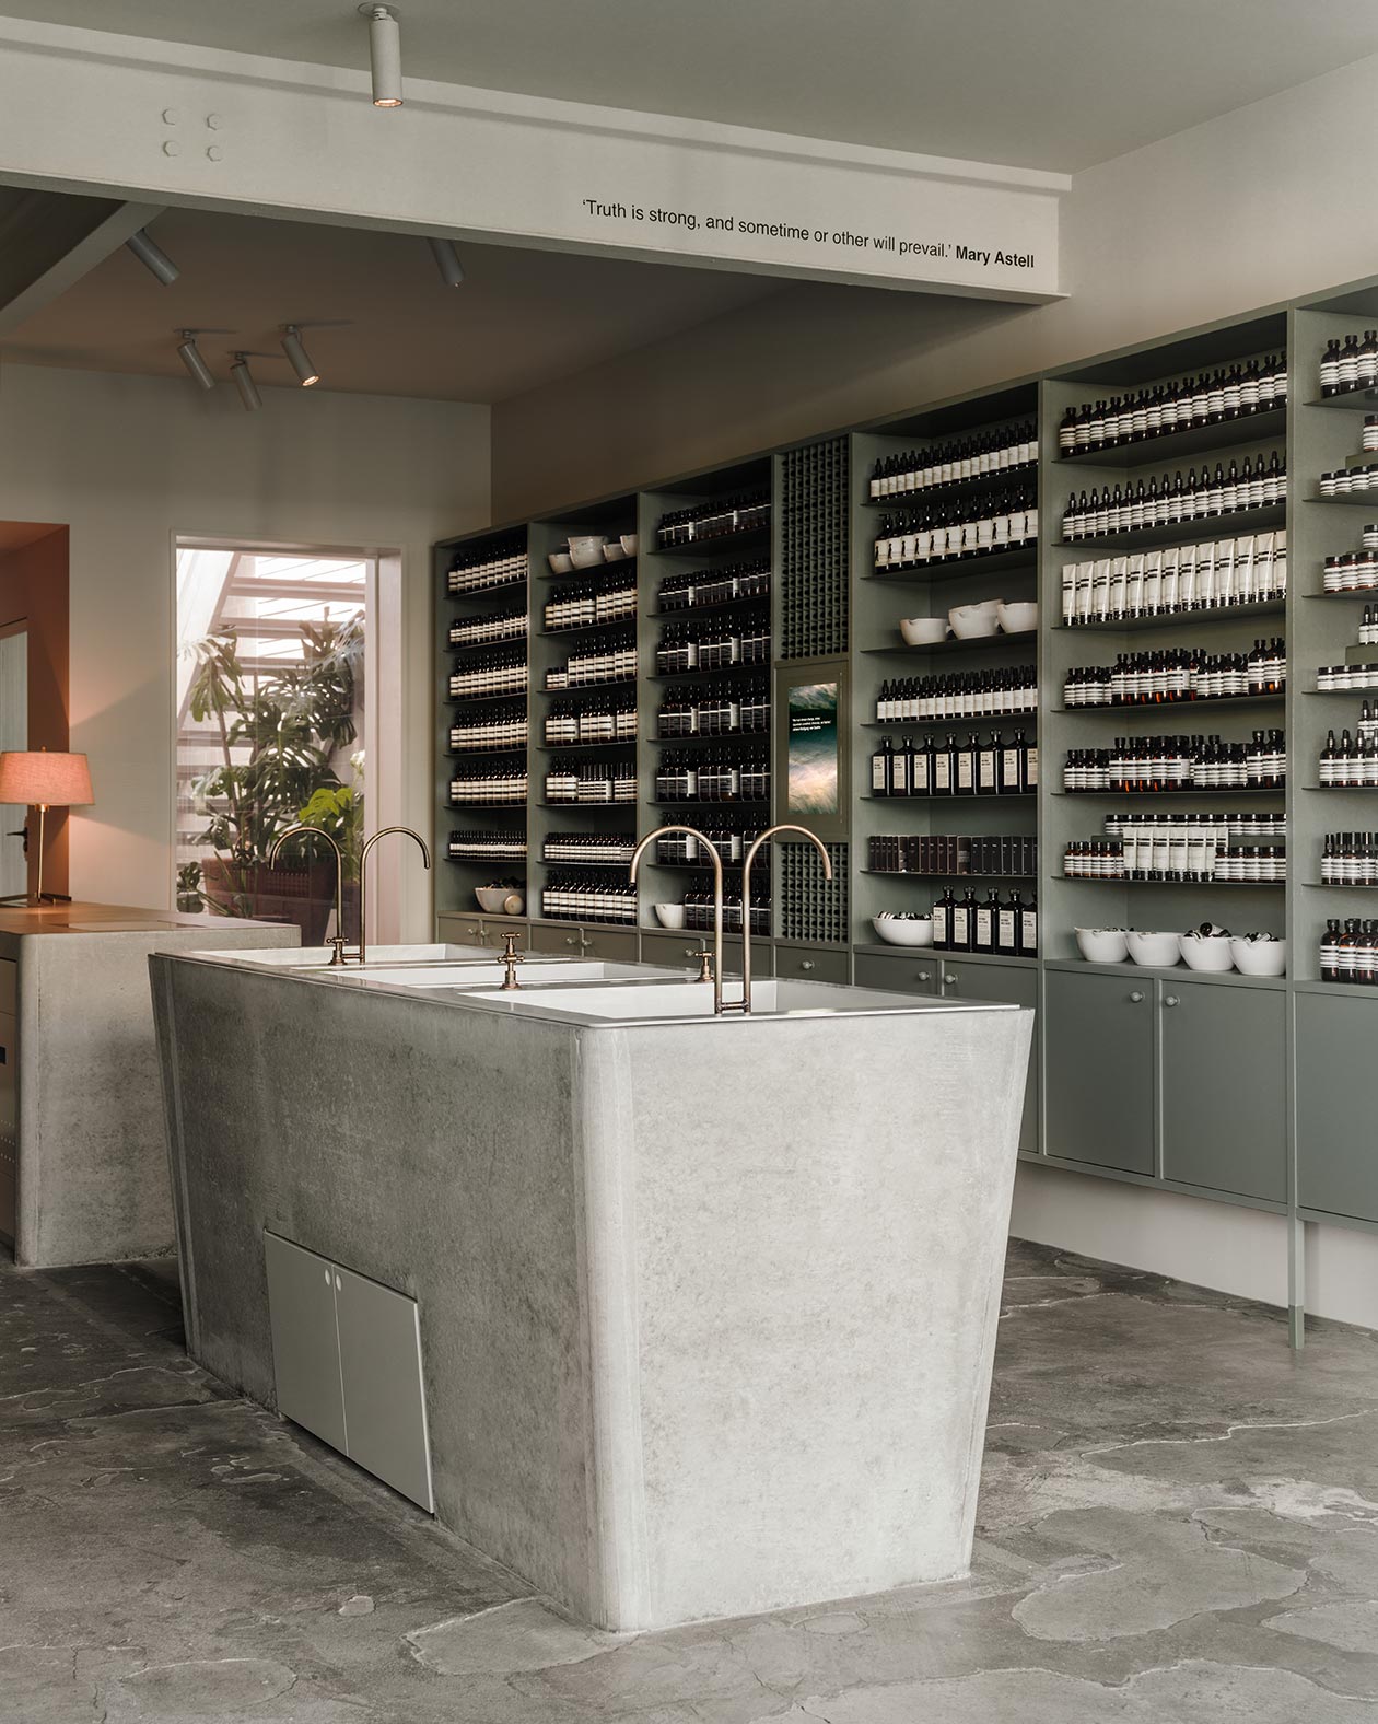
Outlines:
<svg viewBox="0 0 1378 1724"><path fill-rule="evenodd" d="M443 83L1074 172L1378 53L1375 0L400 0ZM0 0L362 69L355 0ZM1357 116L1356 116L1357 122Z"/></svg>

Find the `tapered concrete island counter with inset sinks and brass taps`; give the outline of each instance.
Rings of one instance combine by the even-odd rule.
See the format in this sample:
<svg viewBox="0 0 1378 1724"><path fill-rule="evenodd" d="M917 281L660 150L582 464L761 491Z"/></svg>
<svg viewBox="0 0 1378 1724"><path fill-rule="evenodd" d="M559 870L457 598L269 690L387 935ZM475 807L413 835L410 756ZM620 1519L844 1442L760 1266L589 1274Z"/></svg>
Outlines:
<svg viewBox="0 0 1378 1724"><path fill-rule="evenodd" d="M155 953L191 1353L616 1631L961 1574L1033 1014Z"/></svg>

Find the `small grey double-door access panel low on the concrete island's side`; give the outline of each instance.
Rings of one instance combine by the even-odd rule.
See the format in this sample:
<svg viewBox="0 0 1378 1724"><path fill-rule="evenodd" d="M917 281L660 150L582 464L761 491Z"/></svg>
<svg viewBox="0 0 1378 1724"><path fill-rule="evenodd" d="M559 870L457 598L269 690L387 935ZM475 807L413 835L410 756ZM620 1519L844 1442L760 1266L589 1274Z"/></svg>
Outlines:
<svg viewBox="0 0 1378 1724"><path fill-rule="evenodd" d="M278 1410L435 1510L417 1303L264 1231Z"/></svg>

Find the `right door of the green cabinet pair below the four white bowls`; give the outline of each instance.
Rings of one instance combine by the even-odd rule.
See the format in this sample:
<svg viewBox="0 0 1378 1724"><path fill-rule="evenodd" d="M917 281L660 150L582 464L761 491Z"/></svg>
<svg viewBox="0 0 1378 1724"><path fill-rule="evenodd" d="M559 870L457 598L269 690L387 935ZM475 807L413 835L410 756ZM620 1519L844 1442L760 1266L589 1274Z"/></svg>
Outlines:
<svg viewBox="0 0 1378 1724"><path fill-rule="evenodd" d="M1287 1202L1287 995L1157 984L1162 1176Z"/></svg>

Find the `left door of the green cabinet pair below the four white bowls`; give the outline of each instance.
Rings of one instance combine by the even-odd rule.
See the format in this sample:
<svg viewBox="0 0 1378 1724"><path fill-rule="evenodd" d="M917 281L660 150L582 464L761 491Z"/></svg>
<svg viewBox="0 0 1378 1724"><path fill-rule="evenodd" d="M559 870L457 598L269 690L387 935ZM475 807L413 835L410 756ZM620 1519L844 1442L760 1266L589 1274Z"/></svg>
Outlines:
<svg viewBox="0 0 1378 1724"><path fill-rule="evenodd" d="M1154 1172L1154 983L1100 971L1043 976L1043 1150Z"/></svg>

